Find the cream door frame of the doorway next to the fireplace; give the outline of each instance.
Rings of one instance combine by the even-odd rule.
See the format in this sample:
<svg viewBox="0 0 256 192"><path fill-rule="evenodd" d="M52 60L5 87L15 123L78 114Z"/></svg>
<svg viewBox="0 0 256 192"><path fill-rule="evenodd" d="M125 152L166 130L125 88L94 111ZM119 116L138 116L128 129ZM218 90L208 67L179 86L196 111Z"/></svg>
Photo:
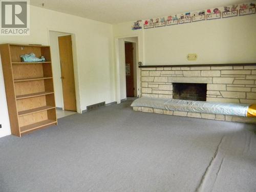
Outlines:
<svg viewBox="0 0 256 192"><path fill-rule="evenodd" d="M134 75L136 75L136 79L137 79L137 96L140 95L140 73L139 73L139 67L138 67L138 62L142 61L143 58L140 56L140 47L141 47L141 38L139 35L127 35L127 36L120 36L120 37L115 37L115 61L116 61L116 101L117 103L121 103L121 84L120 84L120 60L125 61L125 55L123 54L122 58L119 58L119 45L118 45L118 40L119 39L125 39L125 38L129 38L129 37L137 37L138 42L132 41L132 40L125 40L127 42L135 42L136 43L136 63L134 63L134 65L136 66L136 74L134 73ZM124 44L123 44L123 50L125 50L124 48ZM125 63L125 62L124 62ZM125 73L124 73L125 74ZM125 77L124 77L125 78ZM125 86L125 91L126 91L126 86ZM136 97L137 97L136 96Z"/></svg>

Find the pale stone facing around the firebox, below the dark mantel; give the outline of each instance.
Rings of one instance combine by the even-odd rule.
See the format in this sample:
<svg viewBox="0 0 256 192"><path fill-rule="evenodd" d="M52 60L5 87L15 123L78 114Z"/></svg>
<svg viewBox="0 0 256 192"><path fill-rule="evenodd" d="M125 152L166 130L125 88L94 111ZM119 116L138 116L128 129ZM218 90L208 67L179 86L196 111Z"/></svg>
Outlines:
<svg viewBox="0 0 256 192"><path fill-rule="evenodd" d="M207 83L206 101L256 103L256 65L140 68L141 95L173 98L173 83Z"/></svg>

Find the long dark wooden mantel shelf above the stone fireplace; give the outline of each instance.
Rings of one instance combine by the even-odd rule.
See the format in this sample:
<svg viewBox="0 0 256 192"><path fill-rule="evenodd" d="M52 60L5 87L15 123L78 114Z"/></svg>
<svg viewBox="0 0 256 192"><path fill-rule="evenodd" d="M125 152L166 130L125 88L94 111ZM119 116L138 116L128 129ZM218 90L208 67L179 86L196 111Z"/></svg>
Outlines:
<svg viewBox="0 0 256 192"><path fill-rule="evenodd" d="M223 64L197 64L197 65L155 65L139 66L139 68L162 68L162 67L211 67L211 66L256 66L256 63L223 63Z"/></svg>

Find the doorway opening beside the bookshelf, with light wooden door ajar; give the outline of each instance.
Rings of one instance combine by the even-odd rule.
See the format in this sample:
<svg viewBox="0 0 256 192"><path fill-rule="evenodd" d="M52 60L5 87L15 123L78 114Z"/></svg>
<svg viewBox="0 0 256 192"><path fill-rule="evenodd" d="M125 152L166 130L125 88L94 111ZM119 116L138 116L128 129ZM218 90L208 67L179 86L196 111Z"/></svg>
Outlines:
<svg viewBox="0 0 256 192"><path fill-rule="evenodd" d="M72 34L49 32L57 118L77 112Z"/></svg>

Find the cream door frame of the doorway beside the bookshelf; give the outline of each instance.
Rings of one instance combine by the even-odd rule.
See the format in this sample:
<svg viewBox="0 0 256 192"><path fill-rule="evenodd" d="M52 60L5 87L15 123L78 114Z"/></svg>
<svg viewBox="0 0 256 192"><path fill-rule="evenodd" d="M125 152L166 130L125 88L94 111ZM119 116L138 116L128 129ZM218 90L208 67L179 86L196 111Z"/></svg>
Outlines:
<svg viewBox="0 0 256 192"><path fill-rule="evenodd" d="M82 113L81 110L81 100L80 100L80 83L79 83L79 68L78 68L78 62L77 62L77 46L76 46L76 33L69 31L69 30L58 30L58 29L47 29L48 34L48 45L50 45L50 31L53 32L59 32L59 33L67 33L71 35L72 39L72 51L73 51L73 67L74 67L74 77L75 77L75 92L76 92L76 110L77 113ZM59 63L60 64L60 63ZM63 94L63 93L62 93ZM64 105L62 106L64 108Z"/></svg>

